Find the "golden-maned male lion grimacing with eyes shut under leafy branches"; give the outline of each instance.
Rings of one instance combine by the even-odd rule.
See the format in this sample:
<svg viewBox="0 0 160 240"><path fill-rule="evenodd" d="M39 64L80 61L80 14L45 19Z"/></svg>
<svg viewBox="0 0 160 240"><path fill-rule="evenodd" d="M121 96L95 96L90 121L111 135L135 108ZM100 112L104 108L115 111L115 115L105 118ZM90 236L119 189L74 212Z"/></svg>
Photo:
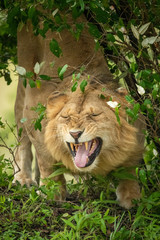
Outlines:
<svg viewBox="0 0 160 240"><path fill-rule="evenodd" d="M72 18L67 18L74 28ZM21 185L34 183L31 144L36 151L40 184L59 161L76 174L90 172L105 175L119 166L136 166L142 158L141 123L131 126L127 122L124 93L117 90L118 84L112 79L101 51L95 51L95 41L88 33L85 17L79 17L78 21L85 26L79 41L68 30L60 33L48 31L46 38L35 36L30 23L18 32L18 65L33 71L36 62L45 62L40 74L53 78L42 81L40 89L31 88L29 84L24 88L22 78L19 79L15 116L17 128L23 128L23 131L16 152L20 171L15 174L14 182L18 180ZM49 49L53 38L59 42L63 52L59 58ZM55 65L50 67L53 61ZM66 63L69 68L61 81L57 68ZM71 92L72 74L78 73L84 65L85 71L78 82L89 75L88 85L84 92L79 86ZM102 87L103 90L105 88L105 99L100 97ZM109 105L110 101L121 105L120 122L117 121L115 108ZM47 119L42 121L41 132L34 130L33 120L37 115L31 110L38 103L47 106ZM27 119L24 124L20 121L22 118ZM62 183L61 198L65 198L64 176L60 175L55 180ZM130 208L132 199L140 197L139 185L134 180L123 180L116 193L120 205Z"/></svg>

